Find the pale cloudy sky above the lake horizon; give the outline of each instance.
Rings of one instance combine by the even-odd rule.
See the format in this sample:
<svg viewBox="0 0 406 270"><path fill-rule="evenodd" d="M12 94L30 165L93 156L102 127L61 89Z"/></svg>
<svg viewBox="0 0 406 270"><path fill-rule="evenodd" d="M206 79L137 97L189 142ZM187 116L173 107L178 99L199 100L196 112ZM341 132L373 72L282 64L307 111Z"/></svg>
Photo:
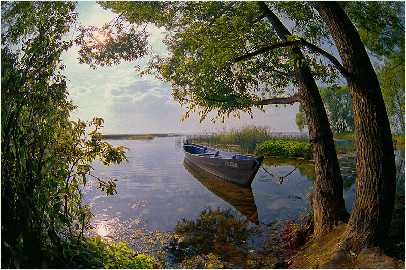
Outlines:
<svg viewBox="0 0 406 270"><path fill-rule="evenodd" d="M86 26L102 26L116 17L93 1L79 1L77 10L78 22ZM148 27L152 34L150 43L155 50L165 54L162 31L154 26ZM266 125L275 132L299 132L295 121L299 112L297 103L286 108L267 105L265 113L253 108L253 118L248 114L241 114L240 119L230 116L224 124L220 120L215 124L211 122L216 112L209 114L200 124L197 124L200 120L197 113L181 122L187 109L179 107L173 100L170 85L153 76L137 75L135 66L141 65L142 68L148 59L93 70L86 64L79 64L77 51L78 47L74 46L62 57L66 65L64 75L70 80L69 98L79 106L71 113L71 119L103 118L102 134L217 132L246 125Z"/></svg>

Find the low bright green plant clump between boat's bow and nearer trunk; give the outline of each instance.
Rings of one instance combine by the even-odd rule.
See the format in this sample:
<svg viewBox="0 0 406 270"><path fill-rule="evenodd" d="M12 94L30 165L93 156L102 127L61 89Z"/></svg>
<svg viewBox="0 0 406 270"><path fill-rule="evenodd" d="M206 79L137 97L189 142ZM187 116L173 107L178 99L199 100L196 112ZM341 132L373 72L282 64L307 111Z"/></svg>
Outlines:
<svg viewBox="0 0 406 270"><path fill-rule="evenodd" d="M257 145L258 154L265 156L304 157L310 143L298 141L266 141Z"/></svg>

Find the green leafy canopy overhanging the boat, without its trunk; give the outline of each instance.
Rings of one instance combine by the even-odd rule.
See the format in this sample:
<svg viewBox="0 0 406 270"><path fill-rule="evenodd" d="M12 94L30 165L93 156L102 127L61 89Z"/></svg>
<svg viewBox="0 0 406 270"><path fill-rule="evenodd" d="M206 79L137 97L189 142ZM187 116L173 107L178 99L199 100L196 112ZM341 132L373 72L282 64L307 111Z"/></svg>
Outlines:
<svg viewBox="0 0 406 270"><path fill-rule="evenodd" d="M212 121L218 118L224 121L224 117L229 115L239 117L241 112L251 114L253 106L263 111L263 105L251 101L285 97L297 91L294 65L308 65L315 78L325 83L332 83L339 77L335 68L323 65L322 59L308 49L303 49L304 58L291 55L282 47L234 64L233 60L238 56L281 41L271 23L259 11L257 2L99 4L115 12L117 19L99 29L100 32L108 32L108 38L103 43L96 45L91 37L82 36L81 62L95 67L117 64L118 58L130 59L120 50L112 50L111 44L123 42L126 46L126 41L121 39L121 29L129 29L126 33L132 38L142 37L145 40L148 23L163 27L168 57L154 53L153 49L147 48L149 45L140 46L139 52L133 55L141 57L149 49L153 57L140 74L154 74L171 83L173 98L188 109L183 120L195 111L198 111L201 121L211 110L217 110ZM329 42L320 17L306 3L269 2L268 5L285 17L294 19L293 35L283 41L294 41L302 36L310 41L321 39ZM94 29L83 29L83 33ZM96 54L98 56L94 57ZM112 59L110 55L113 54L117 58Z"/></svg>

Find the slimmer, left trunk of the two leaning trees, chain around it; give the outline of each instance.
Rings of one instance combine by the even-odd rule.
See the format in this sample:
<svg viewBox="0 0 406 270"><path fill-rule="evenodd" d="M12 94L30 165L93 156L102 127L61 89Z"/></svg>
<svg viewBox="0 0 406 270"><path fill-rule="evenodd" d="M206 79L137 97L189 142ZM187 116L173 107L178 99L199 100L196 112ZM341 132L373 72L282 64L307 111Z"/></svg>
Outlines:
<svg viewBox="0 0 406 270"><path fill-rule="evenodd" d="M291 35L264 2L259 2L259 5L281 40L285 40L285 35ZM298 47L291 50L292 54L303 55ZM295 76L299 85L298 98L306 112L315 160L316 187L312 206L316 236L330 231L339 221L347 222L349 214L343 199L343 182L333 134L319 89L308 66L295 66Z"/></svg>

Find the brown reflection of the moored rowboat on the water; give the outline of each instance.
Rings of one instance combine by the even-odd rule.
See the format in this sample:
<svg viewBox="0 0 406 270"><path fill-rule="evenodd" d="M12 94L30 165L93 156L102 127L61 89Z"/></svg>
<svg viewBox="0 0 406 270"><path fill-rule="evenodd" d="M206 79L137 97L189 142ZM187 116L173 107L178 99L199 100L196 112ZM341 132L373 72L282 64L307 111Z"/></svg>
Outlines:
<svg viewBox="0 0 406 270"><path fill-rule="evenodd" d="M183 166L210 192L233 206L252 223L256 225L259 224L257 205L255 204L251 187L232 183L226 179L215 176L199 168L187 159L184 159Z"/></svg>

